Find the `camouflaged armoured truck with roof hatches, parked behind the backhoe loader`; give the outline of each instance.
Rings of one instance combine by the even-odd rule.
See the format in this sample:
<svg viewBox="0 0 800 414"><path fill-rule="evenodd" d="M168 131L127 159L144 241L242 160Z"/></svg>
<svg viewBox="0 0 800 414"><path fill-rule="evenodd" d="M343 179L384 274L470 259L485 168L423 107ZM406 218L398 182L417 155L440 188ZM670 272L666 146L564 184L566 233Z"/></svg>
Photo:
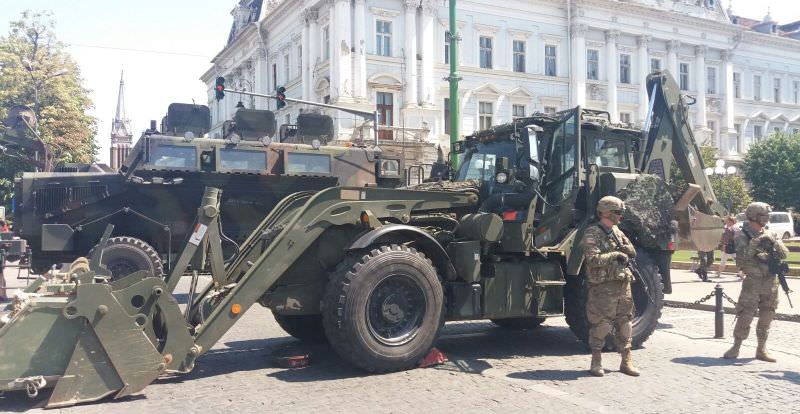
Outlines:
<svg viewBox="0 0 800 414"><path fill-rule="evenodd" d="M209 123L207 107L172 104L162 132L151 126L120 171L95 164L25 173L16 183L17 228L32 248L33 269L87 255L113 224L104 255L112 272L161 272L192 230L205 186L224 189L221 236L226 251L235 252L291 193L402 182L399 159L324 145L332 123L323 115L301 115L283 142L270 138L276 128L269 111L240 109L220 139L202 138Z"/></svg>

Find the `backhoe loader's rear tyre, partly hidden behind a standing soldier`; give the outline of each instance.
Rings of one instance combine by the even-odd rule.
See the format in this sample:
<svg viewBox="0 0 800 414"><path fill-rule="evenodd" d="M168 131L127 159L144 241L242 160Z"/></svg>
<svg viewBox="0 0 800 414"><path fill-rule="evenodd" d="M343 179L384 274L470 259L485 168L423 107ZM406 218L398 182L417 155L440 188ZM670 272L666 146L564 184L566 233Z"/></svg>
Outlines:
<svg viewBox="0 0 800 414"><path fill-rule="evenodd" d="M658 267L650 255L637 251L636 264L639 274L644 279L642 283L647 286L645 291L642 283L631 285L634 305L631 342L634 348L640 348L658 326L661 308L664 306L664 292ZM584 276L567 277L567 285L564 287L564 314L570 330L585 343L588 343L589 339L589 321L586 319L588 292ZM606 349L614 349L614 341L610 335L606 340Z"/></svg>

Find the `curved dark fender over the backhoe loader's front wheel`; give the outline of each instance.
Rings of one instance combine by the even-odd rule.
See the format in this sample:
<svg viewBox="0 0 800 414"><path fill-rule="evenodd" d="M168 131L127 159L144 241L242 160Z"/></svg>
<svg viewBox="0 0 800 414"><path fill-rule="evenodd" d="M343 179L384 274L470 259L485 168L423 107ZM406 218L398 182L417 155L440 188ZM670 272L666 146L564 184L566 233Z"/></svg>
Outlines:
<svg viewBox="0 0 800 414"><path fill-rule="evenodd" d="M425 253L439 270L440 276L450 280L455 278L456 270L450 261L447 250L433 236L418 227L405 224L387 224L362 234L347 248L347 251L366 249L383 242L414 241L418 250Z"/></svg>

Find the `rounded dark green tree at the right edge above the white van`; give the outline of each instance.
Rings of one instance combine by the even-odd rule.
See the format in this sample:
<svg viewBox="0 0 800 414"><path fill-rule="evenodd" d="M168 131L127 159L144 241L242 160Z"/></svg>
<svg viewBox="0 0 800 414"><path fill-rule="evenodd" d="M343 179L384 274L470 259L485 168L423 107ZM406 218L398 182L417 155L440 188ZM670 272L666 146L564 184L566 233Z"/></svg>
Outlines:
<svg viewBox="0 0 800 414"><path fill-rule="evenodd" d="M754 144L744 171L757 201L778 210L800 207L800 134L777 133Z"/></svg>

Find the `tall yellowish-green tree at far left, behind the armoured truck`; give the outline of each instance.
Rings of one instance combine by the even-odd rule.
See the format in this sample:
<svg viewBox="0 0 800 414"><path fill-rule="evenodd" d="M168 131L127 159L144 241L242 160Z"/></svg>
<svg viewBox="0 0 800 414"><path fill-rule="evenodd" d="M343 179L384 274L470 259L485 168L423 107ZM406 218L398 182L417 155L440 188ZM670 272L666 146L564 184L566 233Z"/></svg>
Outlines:
<svg viewBox="0 0 800 414"><path fill-rule="evenodd" d="M16 105L34 110L39 136L52 153L48 168L59 162L89 163L97 153L97 122L86 114L93 106L89 90L54 28L50 12L28 10L0 37L0 119ZM14 177L32 168L0 157L0 203L8 204Z"/></svg>

